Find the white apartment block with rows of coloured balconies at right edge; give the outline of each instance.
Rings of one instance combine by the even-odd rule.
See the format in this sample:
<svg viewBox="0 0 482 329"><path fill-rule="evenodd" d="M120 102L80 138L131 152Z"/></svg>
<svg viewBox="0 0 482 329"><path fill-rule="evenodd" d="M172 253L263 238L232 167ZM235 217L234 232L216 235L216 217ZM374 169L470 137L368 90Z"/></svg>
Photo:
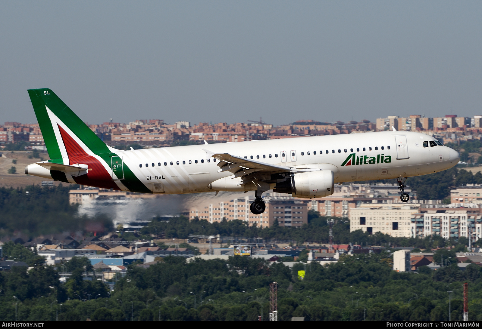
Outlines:
<svg viewBox="0 0 482 329"><path fill-rule="evenodd" d="M412 215L411 222L414 238L440 235L447 240L471 237L472 241L476 241L482 237L480 208L420 209Z"/></svg>

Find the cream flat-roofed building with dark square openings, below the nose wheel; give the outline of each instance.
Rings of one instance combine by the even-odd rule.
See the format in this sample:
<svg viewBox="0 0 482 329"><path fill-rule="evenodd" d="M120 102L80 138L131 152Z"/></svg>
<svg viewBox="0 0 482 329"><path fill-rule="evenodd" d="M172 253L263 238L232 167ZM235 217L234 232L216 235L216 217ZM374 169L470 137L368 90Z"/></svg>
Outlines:
<svg viewBox="0 0 482 329"><path fill-rule="evenodd" d="M374 234L381 232L392 237L412 236L412 215L419 204L362 206L350 210L350 232L361 229Z"/></svg>

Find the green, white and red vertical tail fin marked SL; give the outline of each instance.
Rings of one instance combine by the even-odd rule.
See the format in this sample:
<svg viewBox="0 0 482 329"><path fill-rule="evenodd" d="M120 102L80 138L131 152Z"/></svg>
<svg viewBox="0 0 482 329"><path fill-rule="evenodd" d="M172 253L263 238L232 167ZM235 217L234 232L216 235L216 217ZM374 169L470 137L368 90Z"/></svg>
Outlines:
<svg viewBox="0 0 482 329"><path fill-rule="evenodd" d="M51 159L110 152L107 145L50 89L28 89Z"/></svg>

